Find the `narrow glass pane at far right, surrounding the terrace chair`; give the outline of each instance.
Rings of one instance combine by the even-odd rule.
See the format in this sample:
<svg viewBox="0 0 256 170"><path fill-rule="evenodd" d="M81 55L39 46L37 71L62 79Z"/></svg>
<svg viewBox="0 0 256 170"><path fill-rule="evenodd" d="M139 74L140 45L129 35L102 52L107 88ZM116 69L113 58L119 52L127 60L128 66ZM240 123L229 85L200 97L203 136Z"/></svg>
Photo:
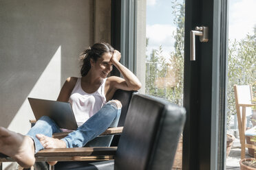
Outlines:
<svg viewBox="0 0 256 170"><path fill-rule="evenodd" d="M226 169L239 169L239 160L241 159L241 144L239 124L237 123L237 109L235 105L235 92L233 86L248 85L252 86L253 99L251 95L242 93L249 99L248 103L255 102L256 91L256 1L255 0L233 0L229 1L229 19L228 19L228 88L227 88L227 109L226 109ZM250 89L249 89L250 91ZM254 100L254 101L251 101ZM245 129L248 130L256 125L255 108L246 110ZM239 115L239 114L238 114ZM256 136L256 130L253 130ZM230 136L231 135L231 136ZM246 137L247 143L253 143L250 139L255 137ZM255 138L256 139L256 138ZM246 142L245 142L246 143ZM253 149L245 149L245 158L255 157ZM255 163L256 166L256 163Z"/></svg>

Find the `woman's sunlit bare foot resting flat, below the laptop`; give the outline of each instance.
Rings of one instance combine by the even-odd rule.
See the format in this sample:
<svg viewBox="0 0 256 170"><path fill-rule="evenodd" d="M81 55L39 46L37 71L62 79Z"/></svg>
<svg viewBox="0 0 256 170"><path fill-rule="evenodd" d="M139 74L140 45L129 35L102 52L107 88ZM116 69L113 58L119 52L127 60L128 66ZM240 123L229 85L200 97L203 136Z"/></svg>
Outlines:
<svg viewBox="0 0 256 170"><path fill-rule="evenodd" d="M36 134L36 138L39 139L45 149L52 148L66 148L66 143L58 138L51 138L43 134Z"/></svg>

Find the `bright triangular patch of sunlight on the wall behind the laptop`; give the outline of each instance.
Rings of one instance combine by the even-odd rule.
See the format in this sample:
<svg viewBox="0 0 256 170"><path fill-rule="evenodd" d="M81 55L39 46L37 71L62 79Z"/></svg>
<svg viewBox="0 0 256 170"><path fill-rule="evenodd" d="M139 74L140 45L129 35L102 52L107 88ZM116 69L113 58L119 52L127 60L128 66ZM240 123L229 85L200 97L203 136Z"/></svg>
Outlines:
<svg viewBox="0 0 256 170"><path fill-rule="evenodd" d="M45 70L30 91L28 97L56 100L61 90L61 46L47 64ZM29 120L34 119L28 98L23 101L14 119L8 126L9 130L26 134L30 130Z"/></svg>

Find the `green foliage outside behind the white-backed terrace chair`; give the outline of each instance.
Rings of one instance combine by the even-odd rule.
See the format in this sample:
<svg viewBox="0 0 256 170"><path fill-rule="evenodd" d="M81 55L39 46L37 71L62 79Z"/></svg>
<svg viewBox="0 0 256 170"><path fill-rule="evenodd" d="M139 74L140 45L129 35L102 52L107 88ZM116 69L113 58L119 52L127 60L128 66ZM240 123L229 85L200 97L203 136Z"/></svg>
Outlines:
<svg viewBox="0 0 256 170"><path fill-rule="evenodd" d="M242 40L229 40L228 45L228 92L227 127L230 128L231 116L236 114L233 86L251 84L256 90L256 27L253 34Z"/></svg>

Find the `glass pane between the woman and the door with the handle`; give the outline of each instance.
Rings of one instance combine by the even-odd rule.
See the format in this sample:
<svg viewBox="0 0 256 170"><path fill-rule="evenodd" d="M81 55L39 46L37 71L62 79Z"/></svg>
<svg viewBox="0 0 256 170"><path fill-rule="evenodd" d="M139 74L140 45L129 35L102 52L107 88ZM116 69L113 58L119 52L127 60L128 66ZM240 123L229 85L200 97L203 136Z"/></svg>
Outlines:
<svg viewBox="0 0 256 170"><path fill-rule="evenodd" d="M183 104L184 0L147 0L146 94ZM182 136L173 169L182 169Z"/></svg>

